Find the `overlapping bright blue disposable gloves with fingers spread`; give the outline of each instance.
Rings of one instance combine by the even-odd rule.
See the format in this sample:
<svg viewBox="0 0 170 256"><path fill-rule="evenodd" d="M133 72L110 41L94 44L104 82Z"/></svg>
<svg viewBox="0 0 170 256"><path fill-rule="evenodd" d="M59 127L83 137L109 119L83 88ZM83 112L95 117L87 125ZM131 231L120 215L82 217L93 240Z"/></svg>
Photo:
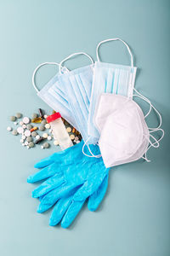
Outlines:
<svg viewBox="0 0 170 256"><path fill-rule="evenodd" d="M88 208L94 211L105 195L109 169L105 168L102 159L82 154L82 145L83 142L41 160L35 167L43 169L28 177L29 183L48 177L32 196L41 197L37 212L45 212L57 202L50 218L51 225L62 219L61 225L68 227L88 196ZM99 147L91 149L97 153Z"/></svg>

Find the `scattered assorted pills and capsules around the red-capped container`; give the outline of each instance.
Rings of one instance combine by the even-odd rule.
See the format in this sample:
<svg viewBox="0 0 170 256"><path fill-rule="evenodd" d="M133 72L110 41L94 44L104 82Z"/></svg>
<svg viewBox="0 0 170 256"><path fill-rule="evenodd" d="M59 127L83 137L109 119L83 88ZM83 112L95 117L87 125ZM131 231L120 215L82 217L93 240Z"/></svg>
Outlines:
<svg viewBox="0 0 170 256"><path fill-rule="evenodd" d="M10 121L14 123L14 128L8 126L7 130L11 131L14 136L20 135L20 143L28 149L34 148L36 145L41 145L42 149L49 148L49 141L54 140L54 136L50 124L47 123L47 117L48 115L43 114L41 108L38 108L38 114L33 113L31 118L23 117L22 113L16 113L10 117ZM80 143L81 134L65 119L62 120L73 144ZM54 140L54 145L58 146L58 141Z"/></svg>

